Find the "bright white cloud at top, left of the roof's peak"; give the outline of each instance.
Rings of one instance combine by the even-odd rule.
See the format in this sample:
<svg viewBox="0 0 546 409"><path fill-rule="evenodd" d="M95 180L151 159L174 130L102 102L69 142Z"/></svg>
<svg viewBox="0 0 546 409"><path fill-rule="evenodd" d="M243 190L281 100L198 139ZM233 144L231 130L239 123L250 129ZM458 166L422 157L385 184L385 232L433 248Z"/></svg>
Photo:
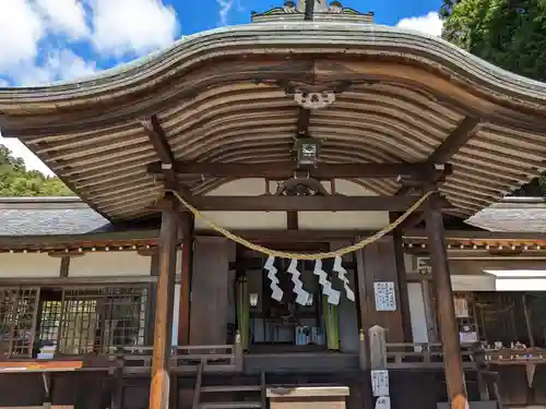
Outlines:
<svg viewBox="0 0 546 409"><path fill-rule="evenodd" d="M97 51L112 56L142 56L168 47L178 34L171 7L161 0L88 0L92 41Z"/></svg>

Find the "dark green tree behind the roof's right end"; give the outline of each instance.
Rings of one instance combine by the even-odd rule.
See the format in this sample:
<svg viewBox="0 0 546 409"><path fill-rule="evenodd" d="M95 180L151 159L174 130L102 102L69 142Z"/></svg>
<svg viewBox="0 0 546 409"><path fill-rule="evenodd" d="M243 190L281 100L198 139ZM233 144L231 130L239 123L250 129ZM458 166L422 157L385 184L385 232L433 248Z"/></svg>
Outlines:
<svg viewBox="0 0 546 409"><path fill-rule="evenodd" d="M443 0L442 37L513 73L546 81L546 0ZM519 195L546 194L543 176Z"/></svg>

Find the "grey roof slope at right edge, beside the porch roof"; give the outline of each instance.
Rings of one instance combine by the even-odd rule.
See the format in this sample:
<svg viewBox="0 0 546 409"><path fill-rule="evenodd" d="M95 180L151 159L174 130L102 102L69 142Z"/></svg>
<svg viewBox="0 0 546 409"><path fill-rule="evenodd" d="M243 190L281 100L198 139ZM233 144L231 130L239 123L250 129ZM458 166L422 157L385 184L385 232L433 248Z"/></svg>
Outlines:
<svg viewBox="0 0 546 409"><path fill-rule="evenodd" d="M489 231L546 232L546 201L506 197L476 213L466 222Z"/></svg>

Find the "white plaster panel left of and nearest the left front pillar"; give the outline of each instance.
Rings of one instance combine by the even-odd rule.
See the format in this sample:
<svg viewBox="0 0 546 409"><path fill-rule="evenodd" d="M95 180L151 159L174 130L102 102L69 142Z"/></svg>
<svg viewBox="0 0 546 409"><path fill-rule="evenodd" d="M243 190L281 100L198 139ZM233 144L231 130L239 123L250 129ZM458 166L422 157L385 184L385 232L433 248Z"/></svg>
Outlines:
<svg viewBox="0 0 546 409"><path fill-rule="evenodd" d="M149 276L151 265L151 256L135 251L86 253L70 260L69 277Z"/></svg>

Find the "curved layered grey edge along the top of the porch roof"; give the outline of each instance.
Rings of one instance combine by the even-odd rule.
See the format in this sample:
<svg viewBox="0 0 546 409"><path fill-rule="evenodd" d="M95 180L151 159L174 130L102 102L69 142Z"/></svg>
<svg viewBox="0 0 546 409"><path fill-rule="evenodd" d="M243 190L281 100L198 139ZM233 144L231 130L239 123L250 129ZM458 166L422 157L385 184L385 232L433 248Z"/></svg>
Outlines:
<svg viewBox="0 0 546 409"><path fill-rule="evenodd" d="M499 69L436 36L373 24L283 22L222 27L183 37L169 49L76 82L28 88L0 88L0 110L105 104L155 87L192 64L245 55L399 52L422 63L446 67L512 103L546 103L546 84ZM509 101L510 103L510 101Z"/></svg>

